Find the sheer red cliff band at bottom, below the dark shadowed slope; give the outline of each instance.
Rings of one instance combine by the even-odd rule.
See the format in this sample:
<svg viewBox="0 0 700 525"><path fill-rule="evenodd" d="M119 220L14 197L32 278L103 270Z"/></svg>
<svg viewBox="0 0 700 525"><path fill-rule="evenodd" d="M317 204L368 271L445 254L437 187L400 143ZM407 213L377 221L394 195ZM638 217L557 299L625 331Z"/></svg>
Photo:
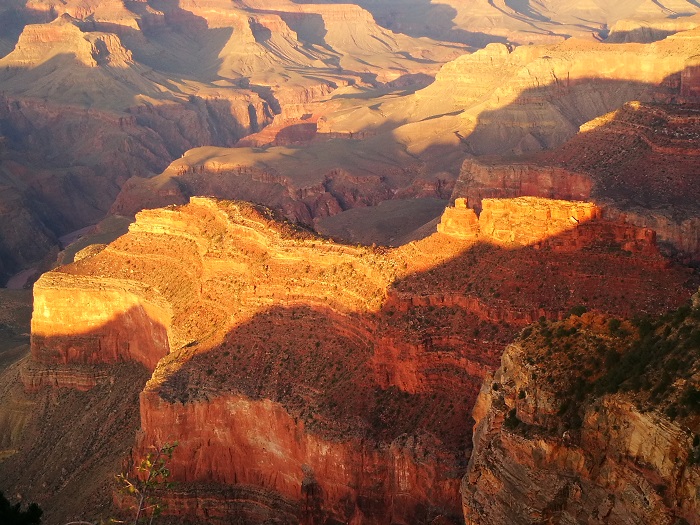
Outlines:
<svg viewBox="0 0 700 525"><path fill-rule="evenodd" d="M435 464L428 452L433 447L419 437L381 447L359 438L328 441L279 404L240 395L181 407L147 390L141 414L144 445L159 442L166 428L178 438L169 464L173 479L257 487L298 502L302 522L331 517L361 523L413 521L420 512L417 501L429 501L430 513L444 509L454 514L457 480ZM231 421L237 424L231 426ZM193 428L202 431L193 434ZM137 445L137 457L147 450ZM216 512L204 503L195 516ZM252 514L247 518L255 521Z"/></svg>

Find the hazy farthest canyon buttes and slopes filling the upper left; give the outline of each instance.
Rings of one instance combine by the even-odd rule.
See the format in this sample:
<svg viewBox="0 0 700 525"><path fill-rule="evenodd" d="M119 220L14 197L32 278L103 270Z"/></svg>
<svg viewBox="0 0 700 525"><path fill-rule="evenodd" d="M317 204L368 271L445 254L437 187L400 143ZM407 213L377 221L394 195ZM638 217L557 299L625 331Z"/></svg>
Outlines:
<svg viewBox="0 0 700 525"><path fill-rule="evenodd" d="M102 218L126 178L192 147L232 146L275 115L298 119L338 87L425 85L464 49L392 35L356 7L37 1L0 12L17 34L0 58L5 204L26 233L7 232L3 280ZM328 36L314 40L318 24Z"/></svg>

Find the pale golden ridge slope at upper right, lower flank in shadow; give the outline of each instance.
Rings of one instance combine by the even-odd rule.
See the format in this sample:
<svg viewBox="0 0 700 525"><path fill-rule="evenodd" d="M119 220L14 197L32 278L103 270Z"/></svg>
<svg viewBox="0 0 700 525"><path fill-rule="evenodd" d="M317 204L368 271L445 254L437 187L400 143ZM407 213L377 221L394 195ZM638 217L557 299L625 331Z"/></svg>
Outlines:
<svg viewBox="0 0 700 525"><path fill-rule="evenodd" d="M474 155L552 148L627 101L681 95L679 77L690 73L699 35L685 31L647 45L578 39L515 49L491 44L446 64L433 84L411 97L413 121L394 136L414 154L434 144ZM379 109L397 120L400 108L389 102Z"/></svg>

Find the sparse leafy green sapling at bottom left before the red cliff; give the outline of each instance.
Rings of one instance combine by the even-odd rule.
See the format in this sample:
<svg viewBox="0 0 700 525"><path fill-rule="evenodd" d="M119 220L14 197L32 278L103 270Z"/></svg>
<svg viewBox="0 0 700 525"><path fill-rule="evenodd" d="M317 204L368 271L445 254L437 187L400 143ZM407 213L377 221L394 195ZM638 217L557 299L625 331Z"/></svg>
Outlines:
<svg viewBox="0 0 700 525"><path fill-rule="evenodd" d="M141 461L137 470L140 475L135 479L130 479L128 474L119 474L117 480L122 484L123 490L135 496L137 500L136 514L133 525L138 523L153 523L153 520L163 512L164 505L159 502L155 492L159 488L171 488L172 483L168 482L170 470L166 464L172 459L173 451L178 442L165 443L160 448L155 448L149 452L146 458Z"/></svg>

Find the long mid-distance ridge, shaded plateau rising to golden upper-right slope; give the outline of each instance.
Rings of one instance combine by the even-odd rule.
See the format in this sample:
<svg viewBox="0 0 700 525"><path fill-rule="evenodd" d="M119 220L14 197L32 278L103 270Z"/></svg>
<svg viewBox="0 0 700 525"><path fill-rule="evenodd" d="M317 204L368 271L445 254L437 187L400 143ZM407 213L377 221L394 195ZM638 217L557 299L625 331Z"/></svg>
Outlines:
<svg viewBox="0 0 700 525"><path fill-rule="evenodd" d="M112 210L131 214L219 195L310 225L387 199L443 198L465 151L540 151L628 100L686 97L694 78L687 66L699 42L687 31L649 45L490 44L446 64L412 95L376 103L376 91L348 88L307 107L322 113L278 119L241 147L188 152L154 179L129 181Z"/></svg>

